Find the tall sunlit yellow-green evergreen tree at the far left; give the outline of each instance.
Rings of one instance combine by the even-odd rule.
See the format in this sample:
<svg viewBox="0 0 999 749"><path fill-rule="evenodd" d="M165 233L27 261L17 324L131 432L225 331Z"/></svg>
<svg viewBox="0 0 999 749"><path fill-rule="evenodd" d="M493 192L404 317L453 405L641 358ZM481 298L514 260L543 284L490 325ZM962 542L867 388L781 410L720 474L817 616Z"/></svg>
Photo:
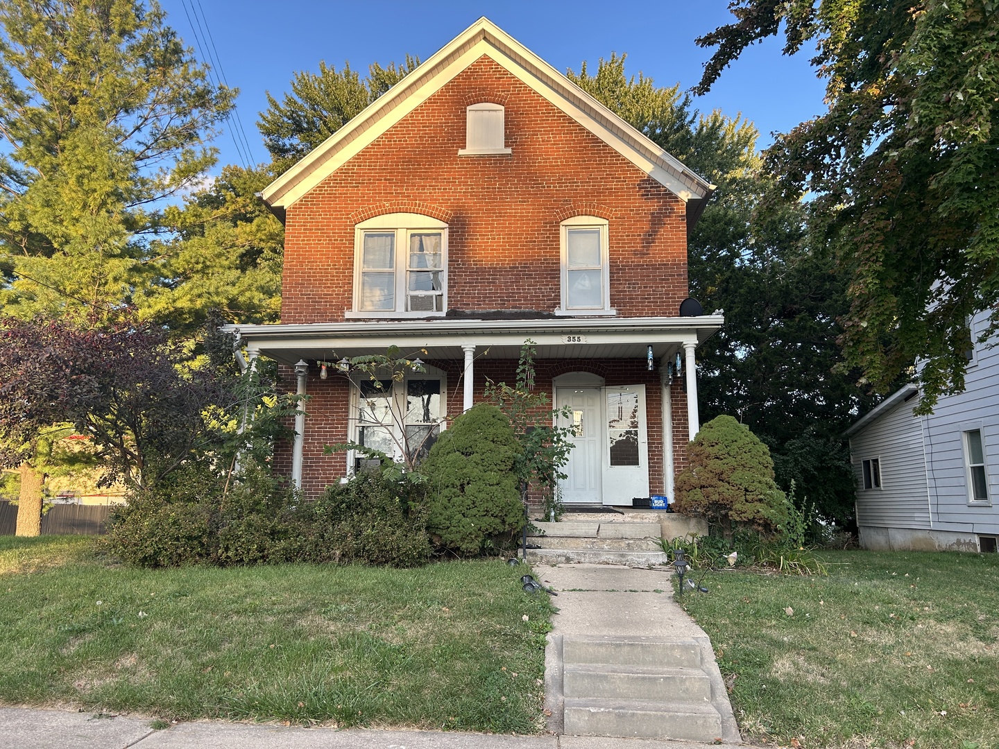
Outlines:
<svg viewBox="0 0 999 749"><path fill-rule="evenodd" d="M0 5L0 301L7 314L109 315L170 286L149 239L164 201L215 162L235 91L155 2Z"/></svg>

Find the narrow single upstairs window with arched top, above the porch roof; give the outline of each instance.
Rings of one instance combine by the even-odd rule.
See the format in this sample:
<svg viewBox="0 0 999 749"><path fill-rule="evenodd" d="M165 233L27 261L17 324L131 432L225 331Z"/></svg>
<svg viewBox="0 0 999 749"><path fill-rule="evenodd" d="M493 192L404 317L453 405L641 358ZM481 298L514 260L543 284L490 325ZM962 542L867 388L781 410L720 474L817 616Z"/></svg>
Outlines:
<svg viewBox="0 0 999 749"><path fill-rule="evenodd" d="M561 307L556 315L614 315L610 307L609 225L574 216L560 225Z"/></svg>

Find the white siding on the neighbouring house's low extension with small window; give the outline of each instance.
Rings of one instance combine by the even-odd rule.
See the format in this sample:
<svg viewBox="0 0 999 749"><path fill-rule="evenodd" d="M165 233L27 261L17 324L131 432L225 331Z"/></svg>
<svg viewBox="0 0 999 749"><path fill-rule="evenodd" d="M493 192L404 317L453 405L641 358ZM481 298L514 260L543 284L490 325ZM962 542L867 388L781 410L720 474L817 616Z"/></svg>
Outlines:
<svg viewBox="0 0 999 749"><path fill-rule="evenodd" d="M917 399L900 401L850 439L858 525L930 527L922 431L912 415ZM865 489L863 461L875 457L881 463L881 487Z"/></svg>

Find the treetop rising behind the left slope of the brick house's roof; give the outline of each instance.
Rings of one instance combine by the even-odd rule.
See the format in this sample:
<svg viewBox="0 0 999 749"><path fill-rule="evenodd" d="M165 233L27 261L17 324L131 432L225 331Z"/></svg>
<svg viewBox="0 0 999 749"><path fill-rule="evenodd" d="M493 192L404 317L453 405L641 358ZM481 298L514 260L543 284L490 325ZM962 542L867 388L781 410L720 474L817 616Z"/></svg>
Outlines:
<svg viewBox="0 0 999 749"><path fill-rule="evenodd" d="M264 136L281 174L319 144L350 122L365 107L420 65L420 58L406 56L402 65L373 63L364 81L350 63L336 67L319 64L319 74L302 71L292 79L292 92L279 102L270 93L268 108L260 113L257 127Z"/></svg>

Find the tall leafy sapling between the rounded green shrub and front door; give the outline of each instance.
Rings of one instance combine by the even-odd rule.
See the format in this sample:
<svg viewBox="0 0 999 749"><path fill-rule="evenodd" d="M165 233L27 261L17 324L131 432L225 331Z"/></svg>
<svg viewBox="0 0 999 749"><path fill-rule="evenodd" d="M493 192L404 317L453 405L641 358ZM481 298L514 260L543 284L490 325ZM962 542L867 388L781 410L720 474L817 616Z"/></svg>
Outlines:
<svg viewBox="0 0 999 749"><path fill-rule="evenodd" d="M553 426L553 417L569 418L569 408L551 411L547 393L534 390L534 342L520 347L516 365L516 383L494 382L487 377L485 396L509 419L520 451L513 471L521 487L534 485L541 491L544 517L561 515L558 480L566 478L561 470L568 461L571 428Z"/></svg>

